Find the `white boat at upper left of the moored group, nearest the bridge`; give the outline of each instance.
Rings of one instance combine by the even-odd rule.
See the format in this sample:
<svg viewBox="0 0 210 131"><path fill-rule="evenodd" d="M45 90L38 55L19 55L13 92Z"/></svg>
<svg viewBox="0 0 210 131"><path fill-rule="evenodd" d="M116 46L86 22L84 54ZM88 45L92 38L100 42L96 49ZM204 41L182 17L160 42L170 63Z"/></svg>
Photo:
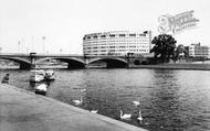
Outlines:
<svg viewBox="0 0 210 131"><path fill-rule="evenodd" d="M45 78L45 72L42 69L31 70L30 81L42 81Z"/></svg>

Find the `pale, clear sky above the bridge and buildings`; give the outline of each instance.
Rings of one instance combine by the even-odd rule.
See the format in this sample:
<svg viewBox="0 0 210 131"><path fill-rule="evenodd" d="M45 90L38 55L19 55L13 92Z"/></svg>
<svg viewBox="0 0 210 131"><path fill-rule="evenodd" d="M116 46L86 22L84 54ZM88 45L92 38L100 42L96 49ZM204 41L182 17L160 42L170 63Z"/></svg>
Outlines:
<svg viewBox="0 0 210 131"><path fill-rule="evenodd" d="M160 15L190 10L199 20L197 26L172 36L177 44L210 46L209 4L209 0L0 0L0 47L2 53L82 54L85 34L150 30L154 37Z"/></svg>

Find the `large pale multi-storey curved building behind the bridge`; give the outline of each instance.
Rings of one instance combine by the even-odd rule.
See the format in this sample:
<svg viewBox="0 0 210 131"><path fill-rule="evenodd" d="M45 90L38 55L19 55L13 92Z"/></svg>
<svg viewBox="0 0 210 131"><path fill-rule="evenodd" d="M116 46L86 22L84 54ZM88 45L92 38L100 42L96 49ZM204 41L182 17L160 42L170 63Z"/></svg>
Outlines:
<svg viewBox="0 0 210 131"><path fill-rule="evenodd" d="M83 37L85 55L146 54L151 45L151 31L115 31L86 34Z"/></svg>

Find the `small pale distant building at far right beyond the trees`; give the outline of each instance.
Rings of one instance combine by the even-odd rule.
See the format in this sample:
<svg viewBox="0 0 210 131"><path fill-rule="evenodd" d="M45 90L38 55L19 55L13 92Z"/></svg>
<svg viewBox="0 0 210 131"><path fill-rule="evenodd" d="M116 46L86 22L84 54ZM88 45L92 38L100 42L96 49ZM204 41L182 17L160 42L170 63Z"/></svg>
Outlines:
<svg viewBox="0 0 210 131"><path fill-rule="evenodd" d="M189 56L206 57L209 55L209 46L200 45L200 43L191 44L189 46Z"/></svg>

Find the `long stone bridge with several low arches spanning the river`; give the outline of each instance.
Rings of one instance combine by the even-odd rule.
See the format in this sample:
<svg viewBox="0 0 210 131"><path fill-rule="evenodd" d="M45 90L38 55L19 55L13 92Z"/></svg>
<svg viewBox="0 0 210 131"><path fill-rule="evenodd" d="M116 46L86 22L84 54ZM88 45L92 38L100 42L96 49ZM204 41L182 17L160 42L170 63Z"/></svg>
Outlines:
<svg viewBox="0 0 210 131"><path fill-rule="evenodd" d="M129 67L129 57L127 56L84 56L84 55L60 55L60 54L0 54L0 58L10 59L20 64L20 69L30 69L48 59L59 59L67 63L67 68L85 68L90 64L102 61L106 63L106 67Z"/></svg>

